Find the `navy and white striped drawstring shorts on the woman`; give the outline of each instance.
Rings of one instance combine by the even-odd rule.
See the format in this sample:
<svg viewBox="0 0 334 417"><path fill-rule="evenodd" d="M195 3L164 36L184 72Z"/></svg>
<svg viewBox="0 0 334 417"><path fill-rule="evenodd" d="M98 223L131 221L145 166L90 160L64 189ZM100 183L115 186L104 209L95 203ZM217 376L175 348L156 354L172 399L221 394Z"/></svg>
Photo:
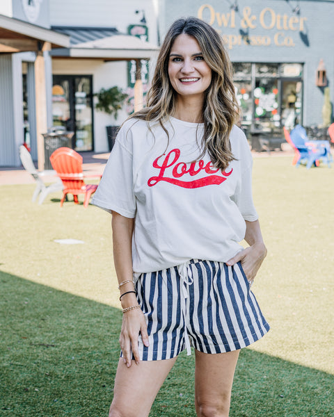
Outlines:
<svg viewBox="0 0 334 417"><path fill-rule="evenodd" d="M176 357L191 346L205 353L238 350L269 330L241 263L191 259L143 273L135 283L150 346L138 340L143 361ZM121 353L122 356L122 353Z"/></svg>

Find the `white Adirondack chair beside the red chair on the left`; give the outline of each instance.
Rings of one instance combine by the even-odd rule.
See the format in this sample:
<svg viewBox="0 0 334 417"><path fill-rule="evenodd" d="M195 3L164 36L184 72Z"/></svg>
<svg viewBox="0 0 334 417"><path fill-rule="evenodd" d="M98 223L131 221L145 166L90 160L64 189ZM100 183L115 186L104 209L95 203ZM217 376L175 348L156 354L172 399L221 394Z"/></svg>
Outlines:
<svg viewBox="0 0 334 417"><path fill-rule="evenodd" d="M38 172L38 170L36 170L35 165L33 165L33 158L31 158L31 154L24 145L19 147L19 158L21 159L24 169L28 171L29 174L31 174L31 177L33 177L33 179L36 181L36 188L33 192L33 202L35 202L39 195L40 197L38 198L38 204L42 204L49 193L63 190L63 183L59 178L57 178L55 183L52 183L49 186L45 185L44 181L42 180L43 172Z"/></svg>

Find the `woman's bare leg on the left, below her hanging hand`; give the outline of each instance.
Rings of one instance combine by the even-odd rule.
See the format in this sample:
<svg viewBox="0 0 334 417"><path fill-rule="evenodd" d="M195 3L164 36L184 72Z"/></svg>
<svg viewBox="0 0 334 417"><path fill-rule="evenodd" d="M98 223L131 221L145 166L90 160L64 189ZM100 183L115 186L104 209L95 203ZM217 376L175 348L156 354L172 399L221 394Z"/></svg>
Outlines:
<svg viewBox="0 0 334 417"><path fill-rule="evenodd" d="M176 358L164 361L141 361L127 368L118 362L113 402L109 417L147 417L161 385Z"/></svg>

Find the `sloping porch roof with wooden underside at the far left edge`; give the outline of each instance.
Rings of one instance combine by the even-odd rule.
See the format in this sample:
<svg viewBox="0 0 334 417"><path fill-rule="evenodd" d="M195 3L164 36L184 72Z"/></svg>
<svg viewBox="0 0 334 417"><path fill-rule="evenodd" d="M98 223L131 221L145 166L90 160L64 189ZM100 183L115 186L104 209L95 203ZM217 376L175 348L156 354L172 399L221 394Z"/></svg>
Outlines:
<svg viewBox="0 0 334 417"><path fill-rule="evenodd" d="M38 42L49 42L52 48L69 47L70 37L13 17L0 15L0 53L37 51Z"/></svg>

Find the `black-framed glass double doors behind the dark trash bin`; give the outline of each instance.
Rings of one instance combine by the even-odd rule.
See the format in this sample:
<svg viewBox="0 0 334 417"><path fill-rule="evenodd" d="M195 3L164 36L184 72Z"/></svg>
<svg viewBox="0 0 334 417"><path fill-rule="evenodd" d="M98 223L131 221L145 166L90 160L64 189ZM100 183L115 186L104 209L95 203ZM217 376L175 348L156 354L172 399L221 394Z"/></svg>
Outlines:
<svg viewBox="0 0 334 417"><path fill-rule="evenodd" d="M93 77L54 75L52 117L54 126L73 131L73 148L93 151Z"/></svg>

